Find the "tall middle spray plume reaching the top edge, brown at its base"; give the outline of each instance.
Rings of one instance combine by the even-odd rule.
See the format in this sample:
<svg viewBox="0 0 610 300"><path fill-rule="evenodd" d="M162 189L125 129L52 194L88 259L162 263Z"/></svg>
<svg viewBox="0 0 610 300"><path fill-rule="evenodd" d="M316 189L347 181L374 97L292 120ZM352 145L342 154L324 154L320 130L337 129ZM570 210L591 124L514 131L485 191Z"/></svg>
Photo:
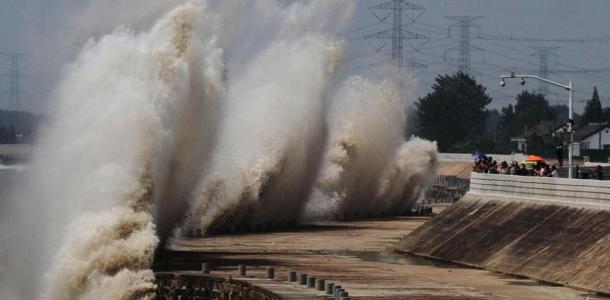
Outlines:
<svg viewBox="0 0 610 300"><path fill-rule="evenodd" d="M227 51L225 118L178 235L267 228L302 214L343 48L329 33L347 23L354 5L280 3L249 2L252 15L231 26L239 39Z"/></svg>

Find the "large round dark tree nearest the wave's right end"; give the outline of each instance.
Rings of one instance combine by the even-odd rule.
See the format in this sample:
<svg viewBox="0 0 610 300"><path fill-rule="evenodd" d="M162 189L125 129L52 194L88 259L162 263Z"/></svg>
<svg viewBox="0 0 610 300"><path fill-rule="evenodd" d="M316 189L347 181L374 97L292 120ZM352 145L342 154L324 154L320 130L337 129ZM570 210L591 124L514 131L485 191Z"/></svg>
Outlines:
<svg viewBox="0 0 610 300"><path fill-rule="evenodd" d="M451 151L453 145L460 145L459 151L476 150L491 102L486 88L459 72L437 76L432 90L415 103L419 135L437 141L440 151Z"/></svg>

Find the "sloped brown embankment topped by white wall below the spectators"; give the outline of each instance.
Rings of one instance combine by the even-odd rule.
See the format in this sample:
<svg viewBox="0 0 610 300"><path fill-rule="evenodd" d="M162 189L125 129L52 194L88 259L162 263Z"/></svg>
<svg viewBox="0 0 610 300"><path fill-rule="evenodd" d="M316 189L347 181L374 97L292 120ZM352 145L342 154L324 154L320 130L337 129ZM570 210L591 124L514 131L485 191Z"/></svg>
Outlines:
<svg viewBox="0 0 610 300"><path fill-rule="evenodd" d="M401 250L610 293L610 184L471 174L470 191Z"/></svg>

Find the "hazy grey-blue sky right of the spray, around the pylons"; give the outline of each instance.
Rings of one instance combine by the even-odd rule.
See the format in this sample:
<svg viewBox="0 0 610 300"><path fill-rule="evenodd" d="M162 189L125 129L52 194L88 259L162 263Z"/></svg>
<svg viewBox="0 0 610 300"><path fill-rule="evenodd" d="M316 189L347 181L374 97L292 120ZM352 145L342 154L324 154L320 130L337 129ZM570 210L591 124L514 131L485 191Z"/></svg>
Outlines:
<svg viewBox="0 0 610 300"><path fill-rule="evenodd" d="M368 25L376 20L367 7L384 1L362 1L359 9L359 24ZM530 47L560 47L549 56L548 68L552 80L567 83L574 81L576 87L576 111L584 108L584 102L591 97L593 86L597 85L602 103L610 106L610 1L572 1L572 0L419 0L413 4L425 7L423 15L415 23L408 23L411 31L426 35L430 40L419 51L408 46L405 48L409 59L428 65L427 68L412 70L419 80L419 95L424 94L434 76L439 73L457 70L457 52L448 52L448 61L444 61L445 49L458 45L458 30L452 31L449 38L447 29L454 21L445 16L485 16L475 21L479 28L471 28L471 44L483 50L472 51L472 69L477 80L488 87L494 98L492 107L506 106L515 103L514 97L523 87L515 80L507 87L499 85L499 75L513 70L516 73L527 72L538 74L539 58L536 50ZM378 25L366 30L352 33L355 37L361 33L370 33L389 27L389 24ZM489 39L493 36L519 38L589 38L608 37L605 42L515 42L509 40ZM367 44L366 41L360 43ZM390 44L391 45L391 44ZM388 46L389 47L389 46ZM369 46L369 49L372 49ZM389 50L389 48L388 48ZM354 62L357 64L357 62ZM583 70L606 69L606 72L588 72ZM578 73L554 73L556 71L579 71ZM527 81L525 88L537 89L538 82ZM551 104L567 104L567 92L549 87L547 98Z"/></svg>

